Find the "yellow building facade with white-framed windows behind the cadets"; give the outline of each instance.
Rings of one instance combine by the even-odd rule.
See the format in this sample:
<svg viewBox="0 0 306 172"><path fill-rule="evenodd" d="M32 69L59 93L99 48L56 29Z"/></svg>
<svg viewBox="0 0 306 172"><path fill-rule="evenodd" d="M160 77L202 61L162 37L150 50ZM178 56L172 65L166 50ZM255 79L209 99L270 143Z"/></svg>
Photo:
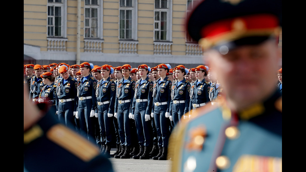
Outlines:
<svg viewBox="0 0 306 172"><path fill-rule="evenodd" d="M24 55L37 64L205 64L186 38L196 0L24 0ZM281 42L281 40L280 40Z"/></svg>

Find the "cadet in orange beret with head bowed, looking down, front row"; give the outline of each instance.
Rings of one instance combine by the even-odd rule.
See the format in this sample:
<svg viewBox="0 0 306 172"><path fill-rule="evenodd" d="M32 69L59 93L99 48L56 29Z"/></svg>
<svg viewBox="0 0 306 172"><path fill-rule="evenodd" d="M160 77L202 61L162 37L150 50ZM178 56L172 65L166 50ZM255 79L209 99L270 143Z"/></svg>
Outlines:
<svg viewBox="0 0 306 172"><path fill-rule="evenodd" d="M56 84L57 114L60 122L72 125L77 130L74 115L77 113L77 81L68 73L68 67L63 65L58 70L61 78Z"/></svg>

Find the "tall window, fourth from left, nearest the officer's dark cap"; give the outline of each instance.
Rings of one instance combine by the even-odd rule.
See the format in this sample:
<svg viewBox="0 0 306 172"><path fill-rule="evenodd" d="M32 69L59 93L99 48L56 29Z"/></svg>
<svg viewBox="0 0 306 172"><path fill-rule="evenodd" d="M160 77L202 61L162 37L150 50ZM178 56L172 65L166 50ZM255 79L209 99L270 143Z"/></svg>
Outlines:
<svg viewBox="0 0 306 172"><path fill-rule="evenodd" d="M171 2L171 1L170 1ZM171 4L167 0L155 0L154 40L170 41Z"/></svg>

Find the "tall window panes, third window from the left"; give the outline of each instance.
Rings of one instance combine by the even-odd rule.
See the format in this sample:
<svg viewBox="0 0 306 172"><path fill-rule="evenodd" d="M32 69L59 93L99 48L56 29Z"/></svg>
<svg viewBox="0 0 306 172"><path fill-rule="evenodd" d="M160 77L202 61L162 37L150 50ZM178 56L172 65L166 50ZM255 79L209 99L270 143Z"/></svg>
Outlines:
<svg viewBox="0 0 306 172"><path fill-rule="evenodd" d="M120 0L120 14L119 14L120 39L132 39L132 18L133 18L132 13L133 13L132 0Z"/></svg>

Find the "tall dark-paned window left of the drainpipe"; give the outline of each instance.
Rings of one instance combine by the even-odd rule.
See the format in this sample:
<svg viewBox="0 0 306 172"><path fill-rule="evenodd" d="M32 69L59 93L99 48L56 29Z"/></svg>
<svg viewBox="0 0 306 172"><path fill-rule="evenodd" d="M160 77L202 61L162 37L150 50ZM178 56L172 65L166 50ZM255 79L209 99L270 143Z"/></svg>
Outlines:
<svg viewBox="0 0 306 172"><path fill-rule="evenodd" d="M62 0L48 0L48 37L62 37L63 32Z"/></svg>

